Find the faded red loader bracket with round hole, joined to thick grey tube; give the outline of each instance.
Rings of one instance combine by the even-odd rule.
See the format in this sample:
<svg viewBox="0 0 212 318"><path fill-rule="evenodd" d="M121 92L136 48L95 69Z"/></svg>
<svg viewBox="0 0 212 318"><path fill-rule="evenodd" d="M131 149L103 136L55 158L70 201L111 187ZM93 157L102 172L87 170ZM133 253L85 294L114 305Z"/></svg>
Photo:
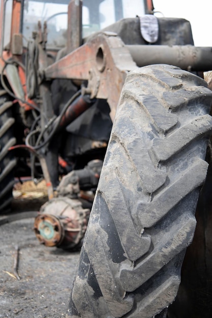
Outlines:
<svg viewBox="0 0 212 318"><path fill-rule="evenodd" d="M212 69L212 52L191 45L125 45L113 33L99 33L47 67L45 77L87 80L87 93L107 100L113 120L127 72L157 63L204 71Z"/></svg>

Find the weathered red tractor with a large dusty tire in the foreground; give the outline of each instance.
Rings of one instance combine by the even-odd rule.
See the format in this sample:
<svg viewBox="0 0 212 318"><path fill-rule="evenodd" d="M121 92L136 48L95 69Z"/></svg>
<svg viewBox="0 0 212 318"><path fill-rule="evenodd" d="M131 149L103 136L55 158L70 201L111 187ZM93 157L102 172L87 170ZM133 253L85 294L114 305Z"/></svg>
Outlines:
<svg viewBox="0 0 212 318"><path fill-rule="evenodd" d="M81 248L67 317L189 317L211 48L149 0L5 0L1 21L0 210L14 177L45 179L38 240Z"/></svg>

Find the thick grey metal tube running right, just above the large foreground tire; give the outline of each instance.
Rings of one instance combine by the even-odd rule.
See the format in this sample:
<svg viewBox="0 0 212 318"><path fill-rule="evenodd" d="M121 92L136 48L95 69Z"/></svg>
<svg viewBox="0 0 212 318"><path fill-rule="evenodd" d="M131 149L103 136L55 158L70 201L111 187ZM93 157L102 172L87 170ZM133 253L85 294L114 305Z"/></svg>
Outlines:
<svg viewBox="0 0 212 318"><path fill-rule="evenodd" d="M188 71L212 69L211 47L192 45L127 45L138 67L169 64Z"/></svg>

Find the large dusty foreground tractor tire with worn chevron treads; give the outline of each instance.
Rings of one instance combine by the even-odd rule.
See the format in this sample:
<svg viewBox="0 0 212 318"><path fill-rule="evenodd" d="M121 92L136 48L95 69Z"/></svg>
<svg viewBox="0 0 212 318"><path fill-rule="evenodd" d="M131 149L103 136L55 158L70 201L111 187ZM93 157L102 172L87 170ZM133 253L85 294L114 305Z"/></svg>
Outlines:
<svg viewBox="0 0 212 318"><path fill-rule="evenodd" d="M196 226L211 102L206 83L177 67L129 73L67 317L166 317Z"/></svg>

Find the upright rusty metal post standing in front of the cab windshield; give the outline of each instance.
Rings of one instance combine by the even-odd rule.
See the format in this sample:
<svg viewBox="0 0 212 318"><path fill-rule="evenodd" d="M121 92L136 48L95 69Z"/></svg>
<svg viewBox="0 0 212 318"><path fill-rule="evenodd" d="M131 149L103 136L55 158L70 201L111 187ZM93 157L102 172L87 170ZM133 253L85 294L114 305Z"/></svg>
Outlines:
<svg viewBox="0 0 212 318"><path fill-rule="evenodd" d="M72 0L68 7L67 51L82 44L82 1Z"/></svg>

